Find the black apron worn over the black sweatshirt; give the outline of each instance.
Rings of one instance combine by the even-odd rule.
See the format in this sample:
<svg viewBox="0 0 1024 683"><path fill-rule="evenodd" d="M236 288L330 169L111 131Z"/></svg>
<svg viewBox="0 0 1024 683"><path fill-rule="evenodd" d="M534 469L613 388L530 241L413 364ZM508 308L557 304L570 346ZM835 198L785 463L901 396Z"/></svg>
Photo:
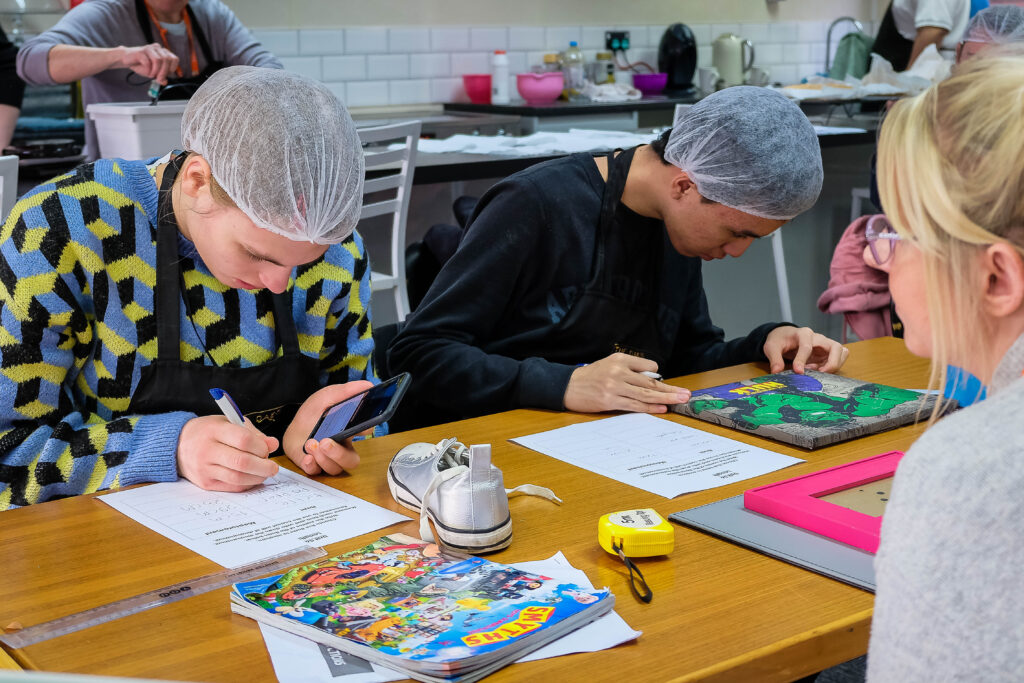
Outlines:
<svg viewBox="0 0 1024 683"><path fill-rule="evenodd" d="M608 179L594 244L591 280L551 334L528 355L554 362L594 362L624 352L665 368L671 342L658 332L665 228L623 224L621 204L635 148L607 156ZM521 351L520 351L521 353Z"/></svg>

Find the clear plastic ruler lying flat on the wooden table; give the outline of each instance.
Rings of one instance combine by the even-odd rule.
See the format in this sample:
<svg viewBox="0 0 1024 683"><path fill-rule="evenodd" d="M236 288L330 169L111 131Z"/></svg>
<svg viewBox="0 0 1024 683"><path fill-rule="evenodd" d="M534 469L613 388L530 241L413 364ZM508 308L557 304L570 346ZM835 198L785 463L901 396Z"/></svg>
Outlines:
<svg viewBox="0 0 1024 683"><path fill-rule="evenodd" d="M92 607L84 611L60 616L49 622L43 622L35 626L30 626L19 631L0 635L0 642L8 647L26 647L35 645L44 640L63 636L69 633L87 629L90 626L112 622L128 614L144 611L160 605L166 605L178 600L184 600L194 595L208 593L209 591L237 584L243 581L250 581L259 577L291 568L297 564L302 564L318 557L327 555L323 548L296 548L280 555L273 555L266 559L251 564L246 564L234 569L221 569L213 573L208 573L198 579L183 581L180 584L165 586L154 591L133 595L116 602L111 602L98 607Z"/></svg>

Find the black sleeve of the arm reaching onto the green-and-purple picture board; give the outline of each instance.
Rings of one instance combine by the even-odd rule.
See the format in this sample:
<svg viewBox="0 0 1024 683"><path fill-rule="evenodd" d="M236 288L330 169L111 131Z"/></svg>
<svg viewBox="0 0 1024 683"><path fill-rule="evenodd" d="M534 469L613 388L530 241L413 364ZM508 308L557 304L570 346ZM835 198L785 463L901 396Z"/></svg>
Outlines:
<svg viewBox="0 0 1024 683"><path fill-rule="evenodd" d="M741 362L765 360L765 339L768 333L790 323L766 323L758 326L745 337L725 341L725 333L715 327L708 312L708 297L703 291L700 268L691 270L687 287L689 296L680 316L679 334L669 360L666 377L689 375Z"/></svg>

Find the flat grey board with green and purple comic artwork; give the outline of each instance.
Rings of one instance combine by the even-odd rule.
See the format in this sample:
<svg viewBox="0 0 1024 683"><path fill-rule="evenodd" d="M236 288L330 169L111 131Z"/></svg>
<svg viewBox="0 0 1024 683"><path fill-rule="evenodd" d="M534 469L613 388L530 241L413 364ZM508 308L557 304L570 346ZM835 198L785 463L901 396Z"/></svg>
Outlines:
<svg viewBox="0 0 1024 683"><path fill-rule="evenodd" d="M808 370L694 389L681 415L804 449L927 419L935 396ZM944 407L952 408L952 405Z"/></svg>

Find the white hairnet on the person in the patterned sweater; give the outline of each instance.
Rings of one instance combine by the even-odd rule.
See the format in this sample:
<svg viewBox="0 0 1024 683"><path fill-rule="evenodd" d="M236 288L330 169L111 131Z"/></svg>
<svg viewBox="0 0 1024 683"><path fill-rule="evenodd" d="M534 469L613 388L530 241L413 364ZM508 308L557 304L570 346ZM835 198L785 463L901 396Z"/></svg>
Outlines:
<svg viewBox="0 0 1024 683"><path fill-rule="evenodd" d="M181 141L271 232L333 244L358 221L362 146L345 106L322 83L278 69L221 69L185 106Z"/></svg>

